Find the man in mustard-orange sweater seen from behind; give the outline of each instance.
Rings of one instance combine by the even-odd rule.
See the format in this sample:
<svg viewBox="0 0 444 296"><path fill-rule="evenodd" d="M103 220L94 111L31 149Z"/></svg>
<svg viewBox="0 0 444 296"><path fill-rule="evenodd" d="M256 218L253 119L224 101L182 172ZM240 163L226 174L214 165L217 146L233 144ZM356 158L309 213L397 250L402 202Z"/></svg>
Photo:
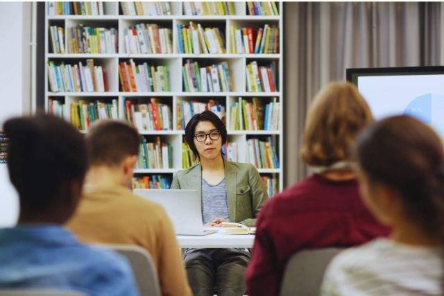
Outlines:
<svg viewBox="0 0 444 296"><path fill-rule="evenodd" d="M100 121L85 135L90 167L83 198L67 227L80 241L144 247L153 257L162 295L191 295L166 211L128 190L140 137L119 121Z"/></svg>

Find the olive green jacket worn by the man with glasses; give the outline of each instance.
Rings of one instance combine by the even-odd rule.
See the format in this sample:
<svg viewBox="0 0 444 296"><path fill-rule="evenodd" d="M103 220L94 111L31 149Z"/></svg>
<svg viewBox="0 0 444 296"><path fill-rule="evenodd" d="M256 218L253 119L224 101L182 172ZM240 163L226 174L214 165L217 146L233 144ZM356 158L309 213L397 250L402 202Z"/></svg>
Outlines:
<svg viewBox="0 0 444 296"><path fill-rule="evenodd" d="M259 172L253 164L229 162L225 159L224 164L230 221L255 227L257 213L268 198ZM197 189L201 192L200 164L178 171L173 177L171 189Z"/></svg>

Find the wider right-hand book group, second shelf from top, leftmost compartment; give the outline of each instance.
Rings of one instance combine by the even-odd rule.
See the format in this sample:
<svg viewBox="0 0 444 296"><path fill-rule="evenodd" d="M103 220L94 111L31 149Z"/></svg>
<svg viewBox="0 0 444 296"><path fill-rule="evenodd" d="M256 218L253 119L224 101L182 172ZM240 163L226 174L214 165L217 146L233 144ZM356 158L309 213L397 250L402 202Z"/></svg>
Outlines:
<svg viewBox="0 0 444 296"><path fill-rule="evenodd" d="M67 28L68 53L117 53L115 28L92 28L82 24Z"/></svg>

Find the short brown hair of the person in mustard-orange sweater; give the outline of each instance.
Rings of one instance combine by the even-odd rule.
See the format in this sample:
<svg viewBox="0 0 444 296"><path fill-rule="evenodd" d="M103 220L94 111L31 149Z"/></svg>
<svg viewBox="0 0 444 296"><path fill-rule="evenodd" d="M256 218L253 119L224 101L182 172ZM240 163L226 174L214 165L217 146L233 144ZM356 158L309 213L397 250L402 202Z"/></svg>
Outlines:
<svg viewBox="0 0 444 296"><path fill-rule="evenodd" d="M89 164L115 166L131 155L139 155L141 138L123 121L101 120L85 136Z"/></svg>

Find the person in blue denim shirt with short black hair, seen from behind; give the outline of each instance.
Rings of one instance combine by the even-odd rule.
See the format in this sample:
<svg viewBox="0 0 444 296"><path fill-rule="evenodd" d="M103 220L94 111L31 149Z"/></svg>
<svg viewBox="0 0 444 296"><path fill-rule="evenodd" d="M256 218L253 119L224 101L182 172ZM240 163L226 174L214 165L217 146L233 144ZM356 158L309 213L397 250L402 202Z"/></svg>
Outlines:
<svg viewBox="0 0 444 296"><path fill-rule="evenodd" d="M74 213L87 169L82 135L49 115L6 121L8 172L19 193L16 227L0 229L1 288L137 296L126 259L79 243L62 227Z"/></svg>

